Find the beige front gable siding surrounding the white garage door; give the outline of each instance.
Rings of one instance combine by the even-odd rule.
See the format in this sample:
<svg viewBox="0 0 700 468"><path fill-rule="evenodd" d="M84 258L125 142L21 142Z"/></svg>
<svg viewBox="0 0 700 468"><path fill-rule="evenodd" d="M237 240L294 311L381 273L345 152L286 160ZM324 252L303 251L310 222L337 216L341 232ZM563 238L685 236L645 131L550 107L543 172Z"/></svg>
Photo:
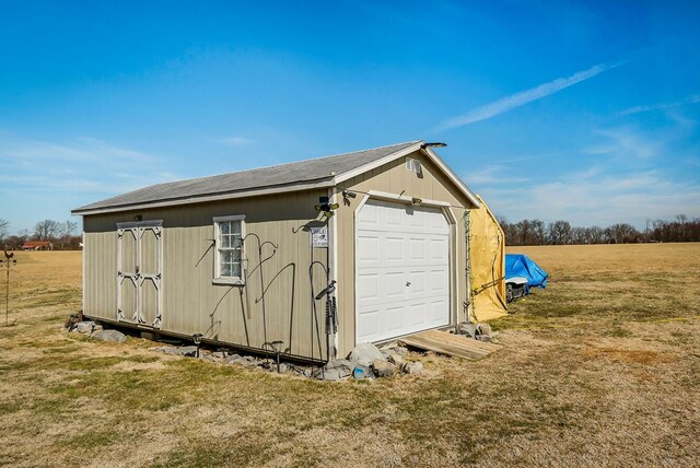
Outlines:
<svg viewBox="0 0 700 468"><path fill-rule="evenodd" d="M362 202L364 195L370 190L388 194L417 197L425 200L447 202L456 223L453 225L451 258L452 258L452 320L456 323L464 319L463 302L466 297L465 277L465 234L464 234L464 207L471 207L469 201L454 186L452 182L440 171L422 152L409 155L420 160L422 174L406 171L406 157L400 157L382 167L364 173L341 184L339 191L348 189L358 194L349 203L338 201L338 311L340 316L339 352L349 353L355 342L355 311L354 311L354 248L355 227L354 212ZM340 198L340 196L339 196ZM456 262L456 265L455 265ZM458 291L458 294L457 294Z"/></svg>

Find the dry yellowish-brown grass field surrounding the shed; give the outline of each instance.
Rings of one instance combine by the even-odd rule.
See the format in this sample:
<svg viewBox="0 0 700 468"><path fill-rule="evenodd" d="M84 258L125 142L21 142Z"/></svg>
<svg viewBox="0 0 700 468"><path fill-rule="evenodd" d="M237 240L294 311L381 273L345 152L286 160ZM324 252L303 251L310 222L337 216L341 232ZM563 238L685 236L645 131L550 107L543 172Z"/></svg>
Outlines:
<svg viewBox="0 0 700 468"><path fill-rule="evenodd" d="M69 335L80 253L19 254L0 465L700 466L700 244L511 250L551 282L492 323L503 350L346 383Z"/></svg>

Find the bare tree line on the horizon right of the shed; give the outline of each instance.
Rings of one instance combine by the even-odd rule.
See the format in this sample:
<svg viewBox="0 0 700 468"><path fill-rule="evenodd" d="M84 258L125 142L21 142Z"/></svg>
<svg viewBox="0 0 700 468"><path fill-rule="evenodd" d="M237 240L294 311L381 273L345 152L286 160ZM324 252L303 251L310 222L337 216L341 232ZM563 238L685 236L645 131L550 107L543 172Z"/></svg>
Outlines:
<svg viewBox="0 0 700 468"><path fill-rule="evenodd" d="M540 220L511 223L497 217L508 245L570 245L570 244L630 244L644 242L700 242L700 218L688 220L685 214L674 221L648 221L643 232L633 225L617 223L607 227L572 226L568 221L545 224Z"/></svg>

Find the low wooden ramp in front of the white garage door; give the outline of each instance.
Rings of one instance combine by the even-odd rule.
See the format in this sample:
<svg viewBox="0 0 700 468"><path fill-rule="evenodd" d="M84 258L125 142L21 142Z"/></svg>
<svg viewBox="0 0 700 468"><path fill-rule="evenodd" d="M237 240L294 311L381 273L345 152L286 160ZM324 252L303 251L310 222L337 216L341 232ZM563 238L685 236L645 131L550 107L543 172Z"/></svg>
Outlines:
<svg viewBox="0 0 700 468"><path fill-rule="evenodd" d="M470 360L481 359L501 349L499 344L478 341L463 335L454 335L440 330L422 331L401 338L398 342L411 348Z"/></svg>

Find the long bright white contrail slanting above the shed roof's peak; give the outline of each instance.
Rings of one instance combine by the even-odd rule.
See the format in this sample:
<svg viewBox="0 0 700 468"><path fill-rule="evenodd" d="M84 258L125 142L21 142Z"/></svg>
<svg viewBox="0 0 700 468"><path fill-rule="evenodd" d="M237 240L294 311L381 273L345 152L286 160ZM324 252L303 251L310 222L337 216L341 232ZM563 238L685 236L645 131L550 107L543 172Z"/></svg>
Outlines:
<svg viewBox="0 0 700 468"><path fill-rule="evenodd" d="M539 86L515 93L508 97L503 97L501 100L489 103L485 106L477 107L476 109L469 110L464 115L450 118L440 124L436 128L436 131L448 130L451 128L462 127L464 125L474 124L475 121L495 117L511 109L514 109L515 107L520 107L533 101L540 100L573 84L593 78L596 74L603 73L604 71L611 70L620 65L622 65L622 62L614 65L599 63L587 70L579 71L569 78L558 78L548 83L542 83Z"/></svg>

